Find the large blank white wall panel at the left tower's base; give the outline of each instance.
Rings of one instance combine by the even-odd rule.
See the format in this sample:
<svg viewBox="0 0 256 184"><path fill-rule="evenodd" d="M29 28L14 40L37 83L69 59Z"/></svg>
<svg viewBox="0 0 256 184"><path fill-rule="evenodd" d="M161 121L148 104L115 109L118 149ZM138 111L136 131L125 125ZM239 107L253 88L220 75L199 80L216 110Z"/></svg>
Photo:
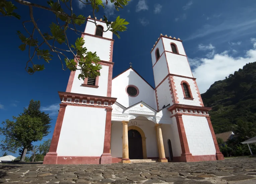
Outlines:
<svg viewBox="0 0 256 184"><path fill-rule="evenodd" d="M104 108L68 105L57 147L58 156L101 156L105 123Z"/></svg>

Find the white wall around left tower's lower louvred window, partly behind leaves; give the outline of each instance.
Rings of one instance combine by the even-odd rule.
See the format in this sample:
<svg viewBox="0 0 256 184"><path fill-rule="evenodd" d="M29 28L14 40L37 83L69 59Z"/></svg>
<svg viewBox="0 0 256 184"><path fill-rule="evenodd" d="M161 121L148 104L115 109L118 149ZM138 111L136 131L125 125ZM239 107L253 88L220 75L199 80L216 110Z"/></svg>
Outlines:
<svg viewBox="0 0 256 184"><path fill-rule="evenodd" d="M80 71L77 70L75 73L74 81L71 88L71 93L95 95L95 96L107 96L107 85L108 85L108 66L102 65L100 70L98 88L85 87L81 84L84 83L83 79L79 80L78 75Z"/></svg>

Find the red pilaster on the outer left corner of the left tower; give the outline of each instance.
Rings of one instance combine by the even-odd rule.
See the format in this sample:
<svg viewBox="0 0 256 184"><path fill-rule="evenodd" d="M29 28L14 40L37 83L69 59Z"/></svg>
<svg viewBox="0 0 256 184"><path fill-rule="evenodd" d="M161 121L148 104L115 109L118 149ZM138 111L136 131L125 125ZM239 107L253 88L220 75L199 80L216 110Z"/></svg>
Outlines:
<svg viewBox="0 0 256 184"><path fill-rule="evenodd" d="M50 146L49 152L46 154L44 158L44 164L57 164L57 147L59 143L61 126L62 126L66 107L67 107L67 104L62 104L62 103L60 104L60 111L55 124L51 146Z"/></svg>

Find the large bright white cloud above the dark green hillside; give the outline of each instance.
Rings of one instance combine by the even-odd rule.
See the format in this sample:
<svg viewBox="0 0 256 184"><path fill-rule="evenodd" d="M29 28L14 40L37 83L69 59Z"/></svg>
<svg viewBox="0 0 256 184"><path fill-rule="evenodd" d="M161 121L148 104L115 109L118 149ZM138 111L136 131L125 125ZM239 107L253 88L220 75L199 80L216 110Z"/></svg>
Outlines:
<svg viewBox="0 0 256 184"><path fill-rule="evenodd" d="M212 58L189 58L201 93L204 93L215 81L223 80L229 74L234 74L239 68L243 68L247 63L256 61L256 38L251 38L251 41L255 47L247 51L243 57L234 58L229 55L229 51L224 51L221 54L215 54Z"/></svg>

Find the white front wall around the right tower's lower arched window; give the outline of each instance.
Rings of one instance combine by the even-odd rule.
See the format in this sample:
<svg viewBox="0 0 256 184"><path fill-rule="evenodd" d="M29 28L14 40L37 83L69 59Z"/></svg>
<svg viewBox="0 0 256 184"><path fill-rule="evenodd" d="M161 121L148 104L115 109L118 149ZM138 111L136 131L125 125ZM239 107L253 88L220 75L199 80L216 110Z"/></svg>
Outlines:
<svg viewBox="0 0 256 184"><path fill-rule="evenodd" d="M177 93L178 101L180 104L201 106L200 105L201 102L198 97L197 89L195 87L195 83L194 83L193 79L173 76L173 81L175 83L175 89L177 90L176 93ZM190 85L190 90L191 90L192 96L194 98L193 100L184 99L181 81L186 81Z"/></svg>

